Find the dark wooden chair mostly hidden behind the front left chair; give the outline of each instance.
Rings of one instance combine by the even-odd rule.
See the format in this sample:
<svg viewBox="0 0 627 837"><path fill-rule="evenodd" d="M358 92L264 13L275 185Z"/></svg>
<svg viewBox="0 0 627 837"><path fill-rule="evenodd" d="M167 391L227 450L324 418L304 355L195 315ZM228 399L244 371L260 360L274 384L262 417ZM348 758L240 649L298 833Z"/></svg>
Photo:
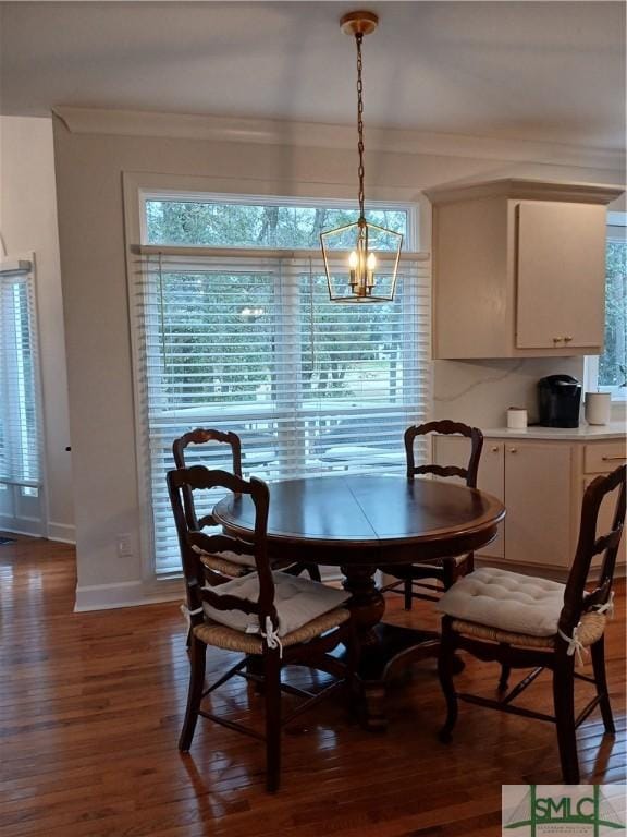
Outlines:
<svg viewBox="0 0 627 837"><path fill-rule="evenodd" d="M190 446L206 446L217 442L231 448L231 466L232 473L235 476L242 477L242 441L236 433L223 432L216 429L206 429L197 427L195 430L183 434L183 436L174 439L172 442L172 456L174 458L174 464L176 468L186 468L186 450ZM207 454L210 458L217 459L216 454ZM207 462L205 464L208 464ZM185 509L185 518L190 529L201 530L206 526L216 526L217 521L213 514L209 512L201 518L197 517L196 507L194 505L193 492L183 488L183 501ZM202 555L202 561L207 569L210 571L208 581L214 584L221 584L226 579L237 579L241 575L245 575L248 572L255 570L255 558L251 555L235 555L222 553L220 555ZM275 567L275 569L279 566ZM299 575L302 572L307 572L310 579L314 581L320 581L320 569L315 563L307 563L305 561L283 562L280 569L284 569L285 572L292 575Z"/></svg>

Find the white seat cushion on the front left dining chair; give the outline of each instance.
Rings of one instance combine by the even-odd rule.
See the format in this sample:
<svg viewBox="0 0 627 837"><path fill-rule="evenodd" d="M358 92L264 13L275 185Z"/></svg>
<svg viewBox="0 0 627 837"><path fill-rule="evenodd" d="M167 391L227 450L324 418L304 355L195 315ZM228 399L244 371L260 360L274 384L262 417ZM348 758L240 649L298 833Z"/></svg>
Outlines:
<svg viewBox="0 0 627 837"><path fill-rule="evenodd" d="M298 630L322 614L340 607L351 597L345 590L328 587L318 581L287 575L285 572L273 572L272 578L274 579L274 606L279 616L279 636L285 636ZM257 602L259 577L257 573L250 573L210 590L217 595L230 594ZM220 622L237 631L259 632L259 621L254 614L247 615L241 610L218 610L207 602L204 608L207 618L213 622Z"/></svg>

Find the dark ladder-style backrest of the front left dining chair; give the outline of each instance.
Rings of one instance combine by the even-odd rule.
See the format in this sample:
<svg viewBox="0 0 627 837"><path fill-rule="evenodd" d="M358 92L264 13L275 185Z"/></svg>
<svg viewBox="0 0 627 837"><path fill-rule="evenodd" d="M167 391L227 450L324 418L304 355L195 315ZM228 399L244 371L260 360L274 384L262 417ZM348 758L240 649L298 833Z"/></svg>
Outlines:
<svg viewBox="0 0 627 837"><path fill-rule="evenodd" d="M226 488L233 494L235 502L245 501L246 497L250 497L255 507L255 533L251 541L242 541L224 534L209 535L189 525L185 514L185 489L193 493L211 488ZM195 611L199 611L202 603L208 602L218 610L241 610L244 614L255 614L259 617L261 626L266 624L266 617L270 617L273 627L276 628L274 582L267 548L268 510L270 507L270 490L267 484L254 476L247 481L226 471L211 471L205 465L194 465L193 468L182 468L168 472L168 493L176 524L192 624L199 624L202 621L202 614ZM206 569L200 558L201 553L211 555L225 550L237 555L255 556L259 579L257 602L234 595L219 595L214 592L217 587L211 589L206 584Z"/></svg>

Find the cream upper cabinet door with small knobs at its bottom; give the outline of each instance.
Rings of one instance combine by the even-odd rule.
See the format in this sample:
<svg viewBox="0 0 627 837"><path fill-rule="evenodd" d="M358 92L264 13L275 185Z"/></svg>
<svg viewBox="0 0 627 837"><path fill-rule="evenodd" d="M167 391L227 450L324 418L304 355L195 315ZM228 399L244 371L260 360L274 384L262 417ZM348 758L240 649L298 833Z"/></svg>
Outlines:
<svg viewBox="0 0 627 837"><path fill-rule="evenodd" d="M602 347L605 207L517 206L518 349Z"/></svg>

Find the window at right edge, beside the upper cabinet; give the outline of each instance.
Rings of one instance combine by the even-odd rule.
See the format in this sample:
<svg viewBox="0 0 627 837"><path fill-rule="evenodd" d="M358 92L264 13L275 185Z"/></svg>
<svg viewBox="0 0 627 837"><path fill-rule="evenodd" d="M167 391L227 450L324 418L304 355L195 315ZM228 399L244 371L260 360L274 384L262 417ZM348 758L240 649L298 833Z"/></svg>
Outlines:
<svg viewBox="0 0 627 837"><path fill-rule="evenodd" d="M588 389L627 399L627 215L608 213L603 354L587 362Z"/></svg>

